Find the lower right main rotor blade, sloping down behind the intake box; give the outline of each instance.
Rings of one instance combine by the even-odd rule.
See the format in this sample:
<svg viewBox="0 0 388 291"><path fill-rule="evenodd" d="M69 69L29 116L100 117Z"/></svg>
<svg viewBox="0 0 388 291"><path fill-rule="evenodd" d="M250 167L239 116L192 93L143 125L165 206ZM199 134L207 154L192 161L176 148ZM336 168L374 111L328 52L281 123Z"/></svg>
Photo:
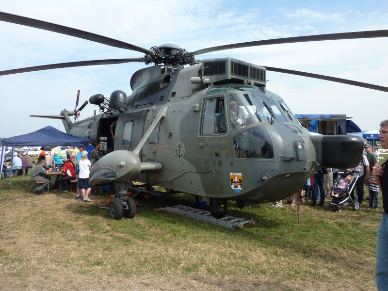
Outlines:
<svg viewBox="0 0 388 291"><path fill-rule="evenodd" d="M358 81L352 81L352 80L347 80L347 79L341 79L341 78L336 78L336 77L330 77L330 76L325 76L325 75L306 73L306 72L301 72L301 71L294 71L294 70L281 69L281 68L275 68L275 67L267 67L265 65L263 67L265 67L267 69L267 71L286 73L286 74L291 74L291 75L298 75L298 76L303 76L303 77L321 79L321 80L326 80L326 81L332 81L332 82L343 83L343 84L347 84L347 85L359 86L359 87L364 87L364 88L368 88L368 89L388 92L388 87L384 87L384 86L363 83L363 82L358 82Z"/></svg>

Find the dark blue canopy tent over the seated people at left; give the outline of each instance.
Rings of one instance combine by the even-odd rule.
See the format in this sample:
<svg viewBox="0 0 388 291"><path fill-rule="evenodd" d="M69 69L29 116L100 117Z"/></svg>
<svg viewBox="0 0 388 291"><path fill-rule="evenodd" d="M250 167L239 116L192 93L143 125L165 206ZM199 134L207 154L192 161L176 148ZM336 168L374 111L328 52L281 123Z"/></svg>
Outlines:
<svg viewBox="0 0 388 291"><path fill-rule="evenodd" d="M12 146L12 164L15 146L78 146L80 144L88 145L89 140L82 137L67 134L51 126L47 126L43 129L39 129L27 134L4 138L2 140L1 148L1 165L4 162L4 154L7 146ZM12 177L12 175L10 175L10 177ZM10 184L12 184L11 178Z"/></svg>

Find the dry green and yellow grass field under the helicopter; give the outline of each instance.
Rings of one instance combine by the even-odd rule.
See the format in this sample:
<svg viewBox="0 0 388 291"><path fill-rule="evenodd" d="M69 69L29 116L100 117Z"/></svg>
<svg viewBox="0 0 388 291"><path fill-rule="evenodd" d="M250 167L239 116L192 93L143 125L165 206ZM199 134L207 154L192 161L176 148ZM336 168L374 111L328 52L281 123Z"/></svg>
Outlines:
<svg viewBox="0 0 388 291"><path fill-rule="evenodd" d="M0 290L376 290L380 210L263 204L228 214L229 229L155 209L194 206L179 194L132 220L99 209L108 197L35 195L30 176L0 181ZM51 182L52 183L52 182ZM365 194L367 196L367 192ZM381 196L381 194L380 194Z"/></svg>

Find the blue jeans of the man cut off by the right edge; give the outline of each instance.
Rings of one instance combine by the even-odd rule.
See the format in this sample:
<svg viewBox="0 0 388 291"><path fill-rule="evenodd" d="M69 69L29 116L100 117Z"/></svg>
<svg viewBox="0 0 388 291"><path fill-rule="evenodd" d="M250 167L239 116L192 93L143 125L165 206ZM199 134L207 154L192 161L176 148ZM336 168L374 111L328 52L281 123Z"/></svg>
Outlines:
<svg viewBox="0 0 388 291"><path fill-rule="evenodd" d="M377 290L388 290L388 217L385 212L377 230L376 284Z"/></svg>

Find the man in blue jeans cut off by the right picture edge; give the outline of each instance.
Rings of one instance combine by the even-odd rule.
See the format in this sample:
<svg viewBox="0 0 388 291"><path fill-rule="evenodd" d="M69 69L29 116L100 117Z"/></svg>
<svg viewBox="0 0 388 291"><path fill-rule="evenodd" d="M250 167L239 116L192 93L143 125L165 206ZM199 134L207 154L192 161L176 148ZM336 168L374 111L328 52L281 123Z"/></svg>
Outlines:
<svg viewBox="0 0 388 291"><path fill-rule="evenodd" d="M380 124L379 139L381 146L388 149L388 120ZM373 177L380 186L383 193L383 218L377 230L376 247L376 283L377 290L388 290L388 160L381 166L377 165L373 169Z"/></svg>

